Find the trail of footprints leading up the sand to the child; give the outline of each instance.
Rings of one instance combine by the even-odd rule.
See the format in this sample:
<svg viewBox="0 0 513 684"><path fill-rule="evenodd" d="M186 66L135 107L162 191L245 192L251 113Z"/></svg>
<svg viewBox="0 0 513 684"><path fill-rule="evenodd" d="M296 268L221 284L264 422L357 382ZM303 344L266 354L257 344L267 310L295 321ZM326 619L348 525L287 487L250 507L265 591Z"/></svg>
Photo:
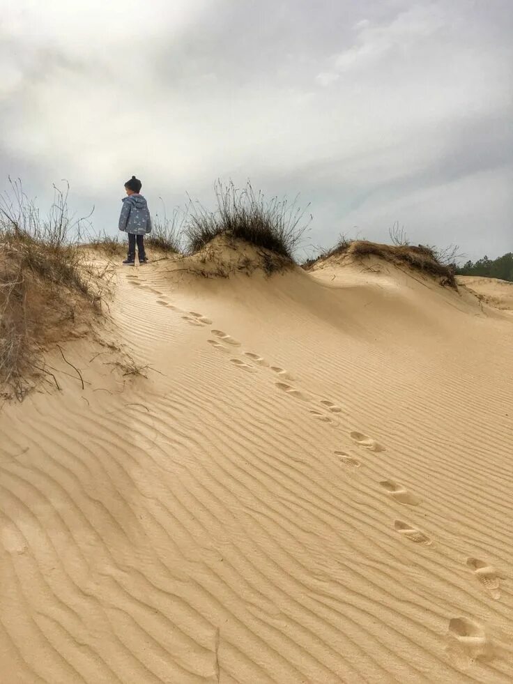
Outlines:
<svg viewBox="0 0 513 684"><path fill-rule="evenodd" d="M172 305L164 298L162 292L138 282L137 275L128 275L127 278L137 287L146 288L153 294L158 295L160 297L157 300L158 305L181 314L181 318L184 321L187 321L188 324L197 327L205 327L212 324L212 321L203 314L194 311L183 311ZM236 351L236 349L241 346L238 340L231 337L231 335L225 333L223 330L212 329L210 330L210 333L213 337L210 337L207 340L208 344L216 351L222 352L222 354L231 355L233 354L233 351ZM312 402L314 402L314 397L312 395L298 390L290 384L295 380L295 377L289 373L289 371L279 366L270 365L265 358L259 356L259 354L254 354L254 352L251 351L244 351L243 357L244 358L232 357L229 361L240 370L248 373L257 372L256 366L268 368L277 376L275 386L278 390L284 392L293 399L305 402L305 404L312 404ZM309 408L308 411L313 418L321 420L323 423L333 424L334 420L332 420L332 416L341 413L342 407L329 400L320 400L319 408ZM356 446L369 452L381 453L385 451L385 448L378 443L378 441L361 432L350 432L349 437ZM337 456L340 464L348 470L356 471L362 466L362 462L349 453L335 451L334 454ZM381 482L378 482L378 487L381 488L381 491L385 496L388 496L389 499L395 503L399 503L401 506L420 506L422 503L420 497L411 494L406 487L394 480L382 480ZM399 535L414 544L429 547L433 543L431 538L422 530L419 530L415 526L403 522L402 520L395 520L394 529ZM499 599L500 575L495 568L486 561L482 561L478 558L467 558L466 565L470 571L473 572L477 581L480 582L484 591L486 591L491 598ZM447 653L458 667L468 667L468 664L473 662L476 658L491 658L492 647L480 624L465 617L451 618L448 624L447 636L449 638Z"/></svg>

